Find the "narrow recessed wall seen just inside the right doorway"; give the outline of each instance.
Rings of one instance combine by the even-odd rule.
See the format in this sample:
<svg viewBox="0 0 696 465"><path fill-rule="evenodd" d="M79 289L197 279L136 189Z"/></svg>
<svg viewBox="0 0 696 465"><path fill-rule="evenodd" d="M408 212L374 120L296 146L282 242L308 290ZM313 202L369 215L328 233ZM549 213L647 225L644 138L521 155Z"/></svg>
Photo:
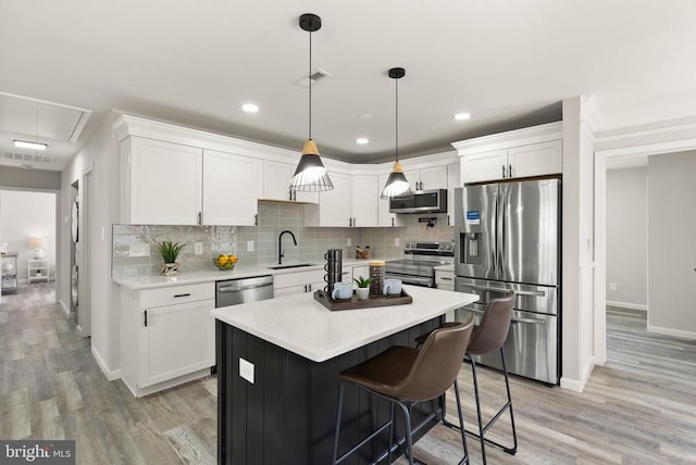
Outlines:
<svg viewBox="0 0 696 465"><path fill-rule="evenodd" d="M647 166L607 171L608 305L647 310Z"/></svg>

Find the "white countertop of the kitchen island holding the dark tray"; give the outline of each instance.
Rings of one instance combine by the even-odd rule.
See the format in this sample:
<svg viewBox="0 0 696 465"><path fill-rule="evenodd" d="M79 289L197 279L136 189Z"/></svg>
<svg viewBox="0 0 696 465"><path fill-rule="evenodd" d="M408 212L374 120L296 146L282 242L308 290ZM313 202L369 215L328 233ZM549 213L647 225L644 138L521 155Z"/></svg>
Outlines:
<svg viewBox="0 0 696 465"><path fill-rule="evenodd" d="M358 349L478 300L478 296L403 286L406 305L331 311L312 293L213 310L231 326L314 362Z"/></svg>

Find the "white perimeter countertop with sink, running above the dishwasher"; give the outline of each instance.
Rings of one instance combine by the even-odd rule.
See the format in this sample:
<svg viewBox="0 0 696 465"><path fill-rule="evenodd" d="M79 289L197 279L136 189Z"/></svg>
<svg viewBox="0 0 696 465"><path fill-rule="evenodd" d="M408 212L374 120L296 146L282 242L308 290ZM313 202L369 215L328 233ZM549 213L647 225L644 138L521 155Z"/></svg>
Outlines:
<svg viewBox="0 0 696 465"><path fill-rule="evenodd" d="M369 263L368 260L344 260L344 266L359 266L366 265ZM287 265L291 265L291 263L287 263ZM324 269L323 263L318 263L311 266L302 266L297 268L282 268L282 269L271 269L269 266L274 265L262 265L262 266L249 266L240 264L235 267L233 271L219 272L216 269L210 269L204 272L183 272L177 276L160 276L160 275L148 275L148 276L138 276L138 277L127 277L127 278L113 278L112 280L119 286L123 286L128 289L152 289L152 288L162 288L167 286L179 286L179 285L190 285L196 282L214 282L224 279L239 279L239 278L248 278L253 276L266 276L266 275L282 275L286 273L299 273L299 272L310 272L315 269Z"/></svg>

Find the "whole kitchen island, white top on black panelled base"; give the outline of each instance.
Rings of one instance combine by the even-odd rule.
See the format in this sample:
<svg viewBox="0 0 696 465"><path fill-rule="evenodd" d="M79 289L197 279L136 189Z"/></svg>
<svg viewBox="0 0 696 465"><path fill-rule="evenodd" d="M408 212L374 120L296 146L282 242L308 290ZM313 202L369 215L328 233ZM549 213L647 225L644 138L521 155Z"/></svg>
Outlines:
<svg viewBox="0 0 696 465"><path fill-rule="evenodd" d="M338 373L390 345L412 347L447 311L478 299L405 290L411 304L332 312L304 293L214 310L219 463L331 463ZM413 420L438 407L440 400L417 405ZM344 412L341 450L388 417L389 406L348 390ZM386 440L365 447L356 463L369 463Z"/></svg>

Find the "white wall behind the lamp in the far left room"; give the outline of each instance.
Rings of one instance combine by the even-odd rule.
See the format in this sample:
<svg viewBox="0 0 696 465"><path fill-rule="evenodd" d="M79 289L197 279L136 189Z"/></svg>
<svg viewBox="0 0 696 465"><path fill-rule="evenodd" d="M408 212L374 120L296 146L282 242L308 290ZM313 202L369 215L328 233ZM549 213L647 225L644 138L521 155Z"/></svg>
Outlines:
<svg viewBox="0 0 696 465"><path fill-rule="evenodd" d="M23 190L0 191L0 242L8 251L17 252L17 278L27 281L27 260L33 256L29 239L45 237L44 250L50 261L51 278L55 275L55 193Z"/></svg>

